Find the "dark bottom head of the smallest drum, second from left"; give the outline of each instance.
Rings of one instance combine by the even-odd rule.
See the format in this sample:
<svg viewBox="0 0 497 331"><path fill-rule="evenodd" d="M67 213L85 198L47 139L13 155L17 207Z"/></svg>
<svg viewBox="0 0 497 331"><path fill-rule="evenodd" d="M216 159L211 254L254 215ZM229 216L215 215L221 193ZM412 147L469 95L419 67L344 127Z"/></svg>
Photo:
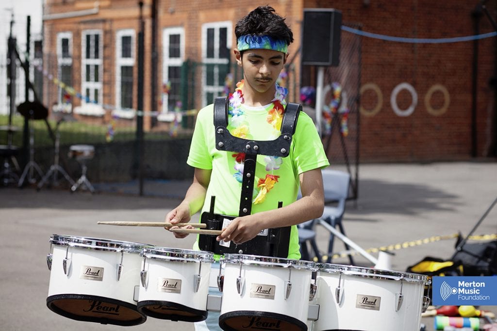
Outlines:
<svg viewBox="0 0 497 331"><path fill-rule="evenodd" d="M193 309L170 301L147 300L138 302L138 311L156 319L200 322L207 318L207 311Z"/></svg>

